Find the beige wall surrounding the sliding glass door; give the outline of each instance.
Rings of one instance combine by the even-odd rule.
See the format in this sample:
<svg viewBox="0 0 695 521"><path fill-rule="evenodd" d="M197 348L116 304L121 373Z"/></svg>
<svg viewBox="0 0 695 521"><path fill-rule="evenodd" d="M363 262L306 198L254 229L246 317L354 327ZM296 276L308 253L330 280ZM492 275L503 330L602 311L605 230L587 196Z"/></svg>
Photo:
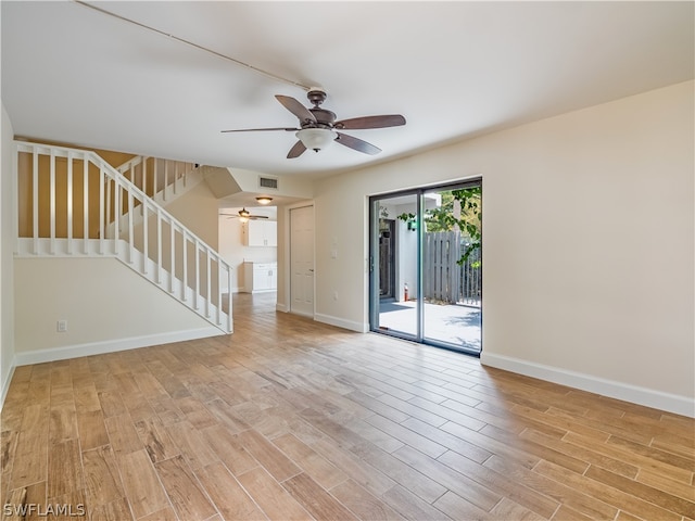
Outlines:
<svg viewBox="0 0 695 521"><path fill-rule="evenodd" d="M483 361L692 403L693 86L323 180L317 318L367 325L368 195L482 176Z"/></svg>

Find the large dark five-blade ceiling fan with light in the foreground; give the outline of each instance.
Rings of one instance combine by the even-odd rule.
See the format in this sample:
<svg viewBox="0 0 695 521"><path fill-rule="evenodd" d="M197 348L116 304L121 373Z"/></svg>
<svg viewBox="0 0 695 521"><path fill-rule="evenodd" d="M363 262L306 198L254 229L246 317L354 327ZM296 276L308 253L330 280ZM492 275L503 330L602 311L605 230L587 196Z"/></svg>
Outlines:
<svg viewBox="0 0 695 521"><path fill-rule="evenodd" d="M294 98L277 94L275 98L288 111L294 114L300 120L300 128L274 127L274 128L242 128L238 130L223 130L223 132L255 132L267 130L285 130L296 132L299 141L287 154L288 160L299 157L306 149L318 152L336 141L344 147L363 152L365 154L378 154L381 149L367 141L349 136L338 130L362 130L368 128L387 128L405 125L405 117L400 114L389 114L380 116L362 116L350 119L336 120L336 114L320 104L326 101L326 92L317 87L312 88L306 97L314 106L306 109Z"/></svg>

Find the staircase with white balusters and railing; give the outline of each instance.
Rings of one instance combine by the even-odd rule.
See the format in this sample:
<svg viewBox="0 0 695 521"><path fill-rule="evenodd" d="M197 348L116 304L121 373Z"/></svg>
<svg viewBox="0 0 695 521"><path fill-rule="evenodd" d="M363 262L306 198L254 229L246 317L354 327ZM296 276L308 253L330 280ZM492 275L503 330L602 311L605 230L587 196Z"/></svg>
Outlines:
<svg viewBox="0 0 695 521"><path fill-rule="evenodd" d="M195 166L135 157L118 168L90 151L15 141L18 256L117 258L231 332L230 266L162 206Z"/></svg>

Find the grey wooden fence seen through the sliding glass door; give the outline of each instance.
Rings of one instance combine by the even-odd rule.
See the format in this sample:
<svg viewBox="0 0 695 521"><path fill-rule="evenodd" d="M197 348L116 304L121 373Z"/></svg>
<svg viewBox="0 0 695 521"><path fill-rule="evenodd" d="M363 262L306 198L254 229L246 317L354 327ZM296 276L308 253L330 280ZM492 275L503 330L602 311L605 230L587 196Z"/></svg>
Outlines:
<svg viewBox="0 0 695 521"><path fill-rule="evenodd" d="M458 231L425 233L424 296L430 302L480 307L482 277L480 249L458 264L468 247Z"/></svg>

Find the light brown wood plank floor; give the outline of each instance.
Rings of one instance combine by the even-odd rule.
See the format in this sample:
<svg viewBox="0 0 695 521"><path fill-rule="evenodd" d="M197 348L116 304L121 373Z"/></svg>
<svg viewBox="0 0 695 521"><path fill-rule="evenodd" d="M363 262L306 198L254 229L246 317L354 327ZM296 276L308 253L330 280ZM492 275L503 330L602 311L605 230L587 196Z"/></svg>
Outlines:
<svg viewBox="0 0 695 521"><path fill-rule="evenodd" d="M692 419L275 313L268 295L237 295L235 329L18 367L3 519L23 504L26 519L695 519Z"/></svg>

